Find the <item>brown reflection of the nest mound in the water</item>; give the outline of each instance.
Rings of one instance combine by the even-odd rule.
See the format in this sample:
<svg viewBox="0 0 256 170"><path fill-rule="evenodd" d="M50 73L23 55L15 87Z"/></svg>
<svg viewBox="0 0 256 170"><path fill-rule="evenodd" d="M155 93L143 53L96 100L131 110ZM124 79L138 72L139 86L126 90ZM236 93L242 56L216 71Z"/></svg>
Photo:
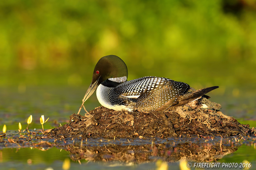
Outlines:
<svg viewBox="0 0 256 170"><path fill-rule="evenodd" d="M178 138L177 138L178 139ZM217 161L223 156L233 153L241 146L241 143L234 142L235 138L216 138L212 139L204 138L189 138L191 141L186 139L178 139L172 141L160 141L151 144L142 144L147 141L133 140L127 143L118 142L115 144L97 145L91 144L81 145L77 142L66 146L57 146L61 149L67 150L70 153L70 157L74 161L85 159L87 161L118 161L123 163L144 163L144 162L155 162L158 159L162 159L167 162L176 162L179 160L187 159L195 162L209 162ZM121 141L126 139L120 139ZM183 141L182 141L183 140ZM238 141L238 140L237 140ZM120 141L119 141L120 142ZM105 143L105 142L103 142ZM137 145L136 145L137 143Z"/></svg>

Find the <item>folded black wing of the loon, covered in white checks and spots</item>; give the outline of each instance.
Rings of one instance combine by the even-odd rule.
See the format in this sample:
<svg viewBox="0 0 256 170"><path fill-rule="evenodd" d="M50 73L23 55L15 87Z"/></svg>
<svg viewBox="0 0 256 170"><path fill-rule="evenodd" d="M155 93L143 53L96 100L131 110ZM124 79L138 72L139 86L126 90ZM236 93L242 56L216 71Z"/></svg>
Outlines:
<svg viewBox="0 0 256 170"><path fill-rule="evenodd" d="M178 104L190 86L167 78L143 77L120 84L116 90L125 105L143 108L144 111L156 110L166 102ZM168 104L170 106L170 104Z"/></svg>

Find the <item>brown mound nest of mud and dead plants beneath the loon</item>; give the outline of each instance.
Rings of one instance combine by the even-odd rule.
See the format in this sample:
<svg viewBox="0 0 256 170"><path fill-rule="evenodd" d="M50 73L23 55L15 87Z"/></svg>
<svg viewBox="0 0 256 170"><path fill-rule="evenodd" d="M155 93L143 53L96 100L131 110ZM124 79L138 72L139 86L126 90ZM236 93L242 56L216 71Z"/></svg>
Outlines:
<svg viewBox="0 0 256 170"><path fill-rule="evenodd" d="M83 115L72 114L69 123L52 129L49 138L132 138L132 137L192 137L195 135L251 136L254 129L240 124L221 111L191 109L153 112L114 111L103 106Z"/></svg>

